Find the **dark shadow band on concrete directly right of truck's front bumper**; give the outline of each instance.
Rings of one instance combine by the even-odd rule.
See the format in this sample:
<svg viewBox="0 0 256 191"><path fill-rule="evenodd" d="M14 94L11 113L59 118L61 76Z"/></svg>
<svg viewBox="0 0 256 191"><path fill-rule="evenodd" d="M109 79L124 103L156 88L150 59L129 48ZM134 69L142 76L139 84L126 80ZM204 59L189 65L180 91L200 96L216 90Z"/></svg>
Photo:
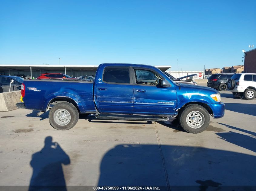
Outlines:
<svg viewBox="0 0 256 191"><path fill-rule="evenodd" d="M249 103L225 103L225 109L256 116L256 104Z"/></svg>

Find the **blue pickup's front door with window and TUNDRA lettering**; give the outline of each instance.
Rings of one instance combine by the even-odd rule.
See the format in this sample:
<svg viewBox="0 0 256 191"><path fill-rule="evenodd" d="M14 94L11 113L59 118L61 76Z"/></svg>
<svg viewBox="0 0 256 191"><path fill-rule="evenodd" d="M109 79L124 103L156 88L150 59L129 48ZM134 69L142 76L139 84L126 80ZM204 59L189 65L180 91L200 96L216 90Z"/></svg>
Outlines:
<svg viewBox="0 0 256 191"><path fill-rule="evenodd" d="M134 67L132 72L135 76L133 114L174 115L177 102L174 85L162 87L161 80L165 77L153 69ZM170 81L167 78L166 80Z"/></svg>

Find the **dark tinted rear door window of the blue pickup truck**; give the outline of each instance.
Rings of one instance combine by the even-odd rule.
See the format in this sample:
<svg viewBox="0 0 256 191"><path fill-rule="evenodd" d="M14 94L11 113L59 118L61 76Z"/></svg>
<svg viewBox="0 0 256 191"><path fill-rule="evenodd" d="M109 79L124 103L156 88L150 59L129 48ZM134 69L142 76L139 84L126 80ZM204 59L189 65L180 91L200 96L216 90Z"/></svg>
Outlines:
<svg viewBox="0 0 256 191"><path fill-rule="evenodd" d="M103 73L103 81L116 84L129 84L129 68L105 68Z"/></svg>

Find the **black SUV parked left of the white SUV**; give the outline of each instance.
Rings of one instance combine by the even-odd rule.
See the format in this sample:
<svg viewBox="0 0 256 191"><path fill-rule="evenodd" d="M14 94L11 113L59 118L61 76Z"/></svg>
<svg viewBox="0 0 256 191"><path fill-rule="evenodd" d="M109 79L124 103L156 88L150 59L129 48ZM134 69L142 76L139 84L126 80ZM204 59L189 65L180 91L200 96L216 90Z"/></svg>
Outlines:
<svg viewBox="0 0 256 191"><path fill-rule="evenodd" d="M228 80L234 74L213 74L208 78L207 86L219 91L228 89Z"/></svg>

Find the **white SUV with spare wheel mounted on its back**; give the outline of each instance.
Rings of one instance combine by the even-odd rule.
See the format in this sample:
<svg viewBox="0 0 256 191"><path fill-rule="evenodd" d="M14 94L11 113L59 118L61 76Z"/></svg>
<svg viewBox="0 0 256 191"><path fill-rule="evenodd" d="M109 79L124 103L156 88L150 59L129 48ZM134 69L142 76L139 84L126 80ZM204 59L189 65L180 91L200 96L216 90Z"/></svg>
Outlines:
<svg viewBox="0 0 256 191"><path fill-rule="evenodd" d="M232 91L233 95L244 96L247 100L254 99L256 96L256 74L234 74L228 80L228 91Z"/></svg>

